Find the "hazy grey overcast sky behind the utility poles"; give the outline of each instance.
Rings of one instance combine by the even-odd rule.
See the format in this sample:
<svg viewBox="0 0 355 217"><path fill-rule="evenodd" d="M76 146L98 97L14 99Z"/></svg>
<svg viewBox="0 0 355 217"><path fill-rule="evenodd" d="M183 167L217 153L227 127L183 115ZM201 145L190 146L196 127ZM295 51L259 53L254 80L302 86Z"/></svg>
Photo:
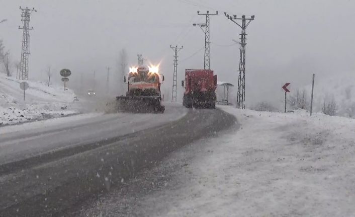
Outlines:
<svg viewBox="0 0 355 217"><path fill-rule="evenodd" d="M129 65L137 64L137 53L153 64L160 62L163 86L171 89L169 45L184 46L179 52L178 81L185 68L203 68L204 33L192 25L204 22L198 10L219 11L211 16L211 69L220 81L235 85L239 47L232 45L232 39L237 40L241 30L223 12L255 15L246 30L249 104L279 100L285 82L295 89L308 85L312 73L320 78L355 68L355 1L351 0L0 0L0 20L8 19L0 24L0 38L15 60L21 55L19 6L38 10L30 22L34 27L30 79L43 76L47 65L56 74L61 68L71 69L73 82L81 73L92 76L94 70L105 77L107 66L112 73L117 70L119 51L125 48ZM182 88L178 90L181 95Z"/></svg>

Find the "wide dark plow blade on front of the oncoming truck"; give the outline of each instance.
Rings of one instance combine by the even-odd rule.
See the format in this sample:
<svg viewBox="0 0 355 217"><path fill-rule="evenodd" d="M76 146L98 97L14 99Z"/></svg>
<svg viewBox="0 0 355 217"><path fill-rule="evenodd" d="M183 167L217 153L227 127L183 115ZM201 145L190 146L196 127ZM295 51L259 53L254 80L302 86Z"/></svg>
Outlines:
<svg viewBox="0 0 355 217"><path fill-rule="evenodd" d="M163 113L165 110L160 97L118 96L116 99L119 112Z"/></svg>

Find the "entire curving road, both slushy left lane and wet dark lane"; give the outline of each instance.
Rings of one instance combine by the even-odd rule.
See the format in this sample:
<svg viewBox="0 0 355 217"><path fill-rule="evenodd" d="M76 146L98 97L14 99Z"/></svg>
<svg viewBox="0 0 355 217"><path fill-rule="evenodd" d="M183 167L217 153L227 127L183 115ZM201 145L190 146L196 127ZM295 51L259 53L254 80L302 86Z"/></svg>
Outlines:
<svg viewBox="0 0 355 217"><path fill-rule="evenodd" d="M0 216L60 216L235 123L218 109L186 112L167 106L163 115L109 114L2 134Z"/></svg>

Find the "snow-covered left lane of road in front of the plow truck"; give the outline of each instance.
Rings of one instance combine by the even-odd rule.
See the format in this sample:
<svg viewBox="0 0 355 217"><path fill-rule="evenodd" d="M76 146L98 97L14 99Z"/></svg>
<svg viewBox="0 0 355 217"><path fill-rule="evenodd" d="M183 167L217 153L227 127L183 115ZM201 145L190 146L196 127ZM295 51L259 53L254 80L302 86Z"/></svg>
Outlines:
<svg viewBox="0 0 355 217"><path fill-rule="evenodd" d="M1 127L0 164L155 127L187 113L178 104L166 107L163 114L92 113Z"/></svg>

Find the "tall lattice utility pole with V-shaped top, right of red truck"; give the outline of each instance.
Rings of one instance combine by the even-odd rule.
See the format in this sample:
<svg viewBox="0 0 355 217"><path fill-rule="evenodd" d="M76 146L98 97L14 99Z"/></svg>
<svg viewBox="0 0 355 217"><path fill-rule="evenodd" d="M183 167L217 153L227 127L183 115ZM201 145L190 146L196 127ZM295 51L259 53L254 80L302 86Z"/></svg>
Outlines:
<svg viewBox="0 0 355 217"><path fill-rule="evenodd" d="M226 12L224 15L231 20L233 23L237 24L241 28L240 35L240 56L239 56L239 77L238 77L238 93L237 93L237 108L245 108L245 40L246 40L246 27L254 20L254 15L250 18L246 18L242 15L241 18L237 18L236 15L229 16ZM241 24L237 23L237 20L241 20Z"/></svg>

